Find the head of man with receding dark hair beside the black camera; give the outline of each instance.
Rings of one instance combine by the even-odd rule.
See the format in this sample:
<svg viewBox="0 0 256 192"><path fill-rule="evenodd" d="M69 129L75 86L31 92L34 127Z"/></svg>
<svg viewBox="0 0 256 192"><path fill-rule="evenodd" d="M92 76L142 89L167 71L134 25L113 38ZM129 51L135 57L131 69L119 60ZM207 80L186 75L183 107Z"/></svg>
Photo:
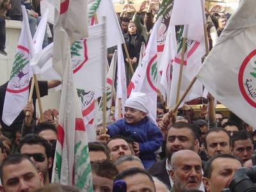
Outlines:
<svg viewBox="0 0 256 192"><path fill-rule="evenodd" d="M220 192L228 188L241 162L230 154L219 154L209 159L204 166L204 187L207 192Z"/></svg>

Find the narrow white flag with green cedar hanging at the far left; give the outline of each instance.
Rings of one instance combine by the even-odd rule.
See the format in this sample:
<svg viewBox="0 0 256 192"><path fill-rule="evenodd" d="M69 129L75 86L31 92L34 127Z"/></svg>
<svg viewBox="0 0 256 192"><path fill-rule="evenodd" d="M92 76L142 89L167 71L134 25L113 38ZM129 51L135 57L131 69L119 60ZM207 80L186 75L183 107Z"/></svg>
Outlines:
<svg viewBox="0 0 256 192"><path fill-rule="evenodd" d="M2 118L4 124L8 126L13 123L28 102L30 79L29 61L35 56L28 24L28 14L24 6L22 6L22 14L23 22L20 39L4 98Z"/></svg>

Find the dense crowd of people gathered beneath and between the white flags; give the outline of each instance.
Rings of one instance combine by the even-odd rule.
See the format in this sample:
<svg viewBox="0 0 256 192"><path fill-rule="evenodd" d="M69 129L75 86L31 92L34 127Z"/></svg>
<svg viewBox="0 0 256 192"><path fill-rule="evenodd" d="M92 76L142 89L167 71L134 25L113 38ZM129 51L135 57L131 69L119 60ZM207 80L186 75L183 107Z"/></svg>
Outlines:
<svg viewBox="0 0 256 192"><path fill-rule="evenodd" d="M5 5L6 11L12 10L14 2ZM29 16L40 16L40 3L21 2L27 4ZM132 4L125 4L120 14L120 28L129 52L129 56L124 54L127 84L132 77L129 65L132 70L138 67L141 43L147 44L150 38L158 4L143 1L138 11ZM127 17L129 10L134 14L132 18ZM143 20L141 15L145 10ZM21 16L11 13L10 19ZM205 8L205 17L211 50L230 14L215 5L209 10ZM0 53L6 55L2 17L0 24ZM113 50L115 47L108 49L109 60ZM41 97L59 84L60 81L39 82ZM47 109L39 117L34 108L34 94L33 101L8 126L2 120L6 87L7 83L0 86L0 191L79 191L75 186L51 182L58 109ZM214 98L208 94L207 99L211 102ZM256 130L232 111L229 116L215 111L212 118L214 109L202 104L196 116L194 109L184 103L175 114L176 111L165 108L159 90L157 101L157 118L154 118L148 112L147 95L132 93L125 102L124 118L115 120L112 114L106 127L102 127L102 122L97 124L97 137L88 143L93 191L122 188L124 191L220 192L229 187L237 168L256 164Z"/></svg>

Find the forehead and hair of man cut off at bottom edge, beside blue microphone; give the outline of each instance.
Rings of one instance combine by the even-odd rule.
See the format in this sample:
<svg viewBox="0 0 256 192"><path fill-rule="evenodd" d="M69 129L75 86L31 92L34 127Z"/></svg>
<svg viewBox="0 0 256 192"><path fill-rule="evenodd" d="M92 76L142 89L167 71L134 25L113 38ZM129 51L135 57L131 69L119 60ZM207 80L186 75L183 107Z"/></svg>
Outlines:
<svg viewBox="0 0 256 192"><path fill-rule="evenodd" d="M130 191L148 191L156 192L156 186L150 173L141 168L129 168L118 173L116 180L124 180L127 186L127 192Z"/></svg>

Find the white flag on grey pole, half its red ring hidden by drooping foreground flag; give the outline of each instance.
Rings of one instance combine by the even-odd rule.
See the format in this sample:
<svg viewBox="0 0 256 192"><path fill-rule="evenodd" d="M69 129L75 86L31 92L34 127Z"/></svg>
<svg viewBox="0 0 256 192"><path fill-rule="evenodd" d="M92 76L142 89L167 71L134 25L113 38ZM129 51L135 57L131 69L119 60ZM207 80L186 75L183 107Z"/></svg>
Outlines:
<svg viewBox="0 0 256 192"><path fill-rule="evenodd" d="M76 88L85 92L106 92L106 30L104 22L89 27L89 36L71 46Z"/></svg>

